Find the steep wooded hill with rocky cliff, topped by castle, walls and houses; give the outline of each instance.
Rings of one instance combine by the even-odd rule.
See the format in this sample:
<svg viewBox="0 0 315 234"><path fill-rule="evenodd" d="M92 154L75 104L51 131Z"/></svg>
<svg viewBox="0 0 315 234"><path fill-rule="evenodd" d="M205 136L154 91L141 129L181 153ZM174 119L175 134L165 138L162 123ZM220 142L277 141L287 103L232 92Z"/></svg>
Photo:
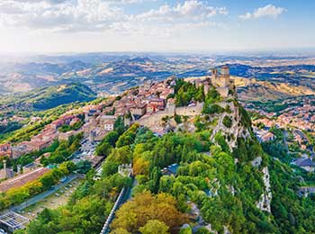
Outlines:
<svg viewBox="0 0 315 234"><path fill-rule="evenodd" d="M125 190L112 234L314 232L302 175L263 150L228 67L146 83L112 102L85 123L111 129L95 151L102 172L91 170L67 206L18 233L100 233Z"/></svg>

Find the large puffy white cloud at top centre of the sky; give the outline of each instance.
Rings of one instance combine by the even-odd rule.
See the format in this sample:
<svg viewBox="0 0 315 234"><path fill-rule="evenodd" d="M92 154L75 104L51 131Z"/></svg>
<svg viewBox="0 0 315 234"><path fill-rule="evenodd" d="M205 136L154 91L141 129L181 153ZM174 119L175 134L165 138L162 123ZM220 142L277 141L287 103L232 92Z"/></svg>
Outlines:
<svg viewBox="0 0 315 234"><path fill-rule="evenodd" d="M213 7L201 1L185 1L171 6L164 4L141 14L129 15L128 21L114 23L112 30L131 36L171 37L178 33L223 27L223 23L211 21L217 14L228 14L225 7Z"/></svg>

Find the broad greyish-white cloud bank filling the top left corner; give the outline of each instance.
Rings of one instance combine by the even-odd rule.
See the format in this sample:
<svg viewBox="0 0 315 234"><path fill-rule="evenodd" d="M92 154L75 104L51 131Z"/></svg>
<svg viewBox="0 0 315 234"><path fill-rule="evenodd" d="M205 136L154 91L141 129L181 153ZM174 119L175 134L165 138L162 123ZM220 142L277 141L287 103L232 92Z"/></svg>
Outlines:
<svg viewBox="0 0 315 234"><path fill-rule="evenodd" d="M10 8L3 7L6 4ZM0 9L3 25L54 31L100 30L123 17L119 8L102 0L77 0L76 4L51 4L47 1L16 3L5 0L0 4Z"/></svg>

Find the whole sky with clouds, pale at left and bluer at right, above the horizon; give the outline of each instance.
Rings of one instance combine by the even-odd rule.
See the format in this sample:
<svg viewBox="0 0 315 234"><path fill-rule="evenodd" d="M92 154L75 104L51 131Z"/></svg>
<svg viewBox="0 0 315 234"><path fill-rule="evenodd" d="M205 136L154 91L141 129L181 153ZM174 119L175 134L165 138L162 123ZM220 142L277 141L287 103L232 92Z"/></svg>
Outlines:
<svg viewBox="0 0 315 234"><path fill-rule="evenodd" d="M312 0L1 0L0 52L315 48Z"/></svg>

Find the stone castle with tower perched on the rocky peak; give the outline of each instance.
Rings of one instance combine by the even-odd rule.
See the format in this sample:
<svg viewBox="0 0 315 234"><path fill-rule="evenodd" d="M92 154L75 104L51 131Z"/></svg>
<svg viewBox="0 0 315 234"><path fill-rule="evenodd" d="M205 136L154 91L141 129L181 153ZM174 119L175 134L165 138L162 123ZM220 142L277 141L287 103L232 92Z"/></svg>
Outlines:
<svg viewBox="0 0 315 234"><path fill-rule="evenodd" d="M218 68L212 68L211 73L211 84L216 87L222 97L228 97L230 92L235 93L234 79L230 78L227 65L220 68L220 74Z"/></svg>

